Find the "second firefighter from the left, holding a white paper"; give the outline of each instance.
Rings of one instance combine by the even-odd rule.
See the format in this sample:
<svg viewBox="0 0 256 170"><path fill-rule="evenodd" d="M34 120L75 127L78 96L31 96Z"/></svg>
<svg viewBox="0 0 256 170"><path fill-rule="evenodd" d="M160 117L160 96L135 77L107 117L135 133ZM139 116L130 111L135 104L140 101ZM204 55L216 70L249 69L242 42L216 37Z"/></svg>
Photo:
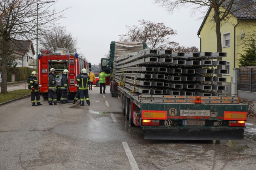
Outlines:
<svg viewBox="0 0 256 170"><path fill-rule="evenodd" d="M53 105L53 104L57 105L56 83L58 82L58 80L55 80L55 77L58 77L58 75L55 74L55 69L51 68L49 76L48 76L48 80L49 80L48 103L49 103L49 105ZM53 101L53 103L52 103L52 101Z"/></svg>

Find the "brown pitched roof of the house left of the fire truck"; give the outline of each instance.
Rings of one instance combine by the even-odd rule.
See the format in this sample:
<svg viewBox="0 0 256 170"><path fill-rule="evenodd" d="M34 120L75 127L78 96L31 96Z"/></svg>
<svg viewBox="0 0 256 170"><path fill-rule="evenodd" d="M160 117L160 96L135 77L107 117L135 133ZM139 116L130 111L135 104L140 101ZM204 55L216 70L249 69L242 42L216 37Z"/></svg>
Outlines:
<svg viewBox="0 0 256 170"><path fill-rule="evenodd" d="M11 47L14 52L23 54L28 52L31 48L33 55L36 54L32 41L11 41Z"/></svg>

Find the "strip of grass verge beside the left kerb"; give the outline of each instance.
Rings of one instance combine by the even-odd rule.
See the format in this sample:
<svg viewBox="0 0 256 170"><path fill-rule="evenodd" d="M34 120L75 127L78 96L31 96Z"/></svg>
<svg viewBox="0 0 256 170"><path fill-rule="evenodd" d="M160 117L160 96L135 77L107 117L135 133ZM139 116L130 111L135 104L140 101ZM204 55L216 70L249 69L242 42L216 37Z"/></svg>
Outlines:
<svg viewBox="0 0 256 170"><path fill-rule="evenodd" d="M25 95L29 95L29 94L30 94L30 91L27 89L13 90L7 93L0 93L0 103L17 99L19 97L24 97Z"/></svg>

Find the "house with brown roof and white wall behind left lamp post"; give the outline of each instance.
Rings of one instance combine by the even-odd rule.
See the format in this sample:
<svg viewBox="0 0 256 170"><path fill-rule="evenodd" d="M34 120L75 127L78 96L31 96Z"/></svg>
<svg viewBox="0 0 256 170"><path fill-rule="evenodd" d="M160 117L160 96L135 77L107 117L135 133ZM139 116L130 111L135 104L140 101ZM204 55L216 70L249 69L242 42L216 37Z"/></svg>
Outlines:
<svg viewBox="0 0 256 170"><path fill-rule="evenodd" d="M10 49L17 59L16 67L36 68L35 50L32 41L11 41Z"/></svg>

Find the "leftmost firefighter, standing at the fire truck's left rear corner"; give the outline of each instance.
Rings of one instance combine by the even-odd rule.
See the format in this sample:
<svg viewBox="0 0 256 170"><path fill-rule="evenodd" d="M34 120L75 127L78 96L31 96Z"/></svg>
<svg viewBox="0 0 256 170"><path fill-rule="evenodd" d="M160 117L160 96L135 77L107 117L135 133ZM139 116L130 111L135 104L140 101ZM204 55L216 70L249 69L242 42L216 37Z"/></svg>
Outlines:
<svg viewBox="0 0 256 170"><path fill-rule="evenodd" d="M39 95L39 84L38 84L38 79L36 78L36 71L32 71L31 77L30 77L30 92L31 92L31 103L32 106L40 106L43 105L40 102L40 95ZM35 98L36 98L36 103L35 103Z"/></svg>

